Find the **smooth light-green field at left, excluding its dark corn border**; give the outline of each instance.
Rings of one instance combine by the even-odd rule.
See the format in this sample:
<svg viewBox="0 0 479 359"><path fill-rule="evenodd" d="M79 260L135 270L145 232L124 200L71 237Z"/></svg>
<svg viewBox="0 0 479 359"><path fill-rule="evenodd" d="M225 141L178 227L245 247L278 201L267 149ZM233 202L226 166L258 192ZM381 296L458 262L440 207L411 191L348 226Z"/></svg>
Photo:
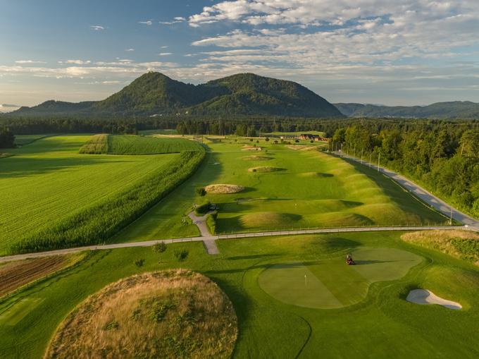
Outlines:
<svg viewBox="0 0 479 359"><path fill-rule="evenodd" d="M2 159L0 254L20 236L101 202L178 157L78 154L88 138L44 138Z"/></svg>

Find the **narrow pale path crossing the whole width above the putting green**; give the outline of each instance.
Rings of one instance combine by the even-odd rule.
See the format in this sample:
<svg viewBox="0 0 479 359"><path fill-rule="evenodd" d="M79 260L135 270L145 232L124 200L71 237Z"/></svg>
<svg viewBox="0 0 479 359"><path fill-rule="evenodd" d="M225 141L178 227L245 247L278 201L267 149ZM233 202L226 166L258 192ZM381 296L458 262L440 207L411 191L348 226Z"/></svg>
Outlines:
<svg viewBox="0 0 479 359"><path fill-rule="evenodd" d="M270 232L256 232L256 233L236 233L236 234L221 234L218 236L201 236L189 238L175 238L175 239L156 239L143 242L130 243L113 243L106 245L88 245L85 247L67 248L61 250L50 250L48 252L25 253L23 255L8 255L0 257L0 262L11 262L13 260L26 260L28 258L46 257L50 255L66 255L73 252L82 252L84 250L111 250L117 248L132 248L132 247L150 247L156 243L181 243L181 242L199 242L199 241L216 241L218 239L240 239L240 238L254 238L254 237L269 237L269 236L294 236L298 234L314 234L314 233L347 233L347 232L378 232L378 231L427 231L433 229L465 229L464 226L376 226L376 227L356 227L356 228L329 228L329 229L297 229L293 231L270 231ZM468 227L471 231L479 231L472 227Z"/></svg>

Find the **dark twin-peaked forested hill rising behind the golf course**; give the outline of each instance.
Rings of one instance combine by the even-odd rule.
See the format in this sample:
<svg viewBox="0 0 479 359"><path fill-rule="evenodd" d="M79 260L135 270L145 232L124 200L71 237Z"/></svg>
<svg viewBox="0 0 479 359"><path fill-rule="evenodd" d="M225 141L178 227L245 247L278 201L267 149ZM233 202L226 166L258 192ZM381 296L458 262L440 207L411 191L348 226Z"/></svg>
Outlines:
<svg viewBox="0 0 479 359"><path fill-rule="evenodd" d="M97 102L47 101L22 107L13 116L56 115L266 115L344 117L323 97L292 81L241 73L191 85L161 73L146 73Z"/></svg>

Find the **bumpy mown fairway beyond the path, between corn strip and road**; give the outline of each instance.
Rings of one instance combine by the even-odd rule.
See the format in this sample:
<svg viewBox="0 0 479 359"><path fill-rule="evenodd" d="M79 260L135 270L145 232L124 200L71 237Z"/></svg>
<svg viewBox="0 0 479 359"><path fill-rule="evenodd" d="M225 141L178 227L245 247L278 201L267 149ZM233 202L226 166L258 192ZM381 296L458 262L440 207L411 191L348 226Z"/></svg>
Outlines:
<svg viewBox="0 0 479 359"><path fill-rule="evenodd" d="M314 150L290 150L264 140L259 143L264 150L254 154L273 159L246 161L242 157L253 153L242 151L244 144L251 142L214 139L208 143L212 152L199 171L175 193L118 233L116 241L195 236L198 232L192 226L182 224L182 215L193 203L205 200L220 205L218 233L444 221L440 214L367 167L355 168L342 159ZM286 171L249 172L254 166L275 166ZM195 188L211 183L243 185L246 190L235 195L199 197L195 194Z"/></svg>

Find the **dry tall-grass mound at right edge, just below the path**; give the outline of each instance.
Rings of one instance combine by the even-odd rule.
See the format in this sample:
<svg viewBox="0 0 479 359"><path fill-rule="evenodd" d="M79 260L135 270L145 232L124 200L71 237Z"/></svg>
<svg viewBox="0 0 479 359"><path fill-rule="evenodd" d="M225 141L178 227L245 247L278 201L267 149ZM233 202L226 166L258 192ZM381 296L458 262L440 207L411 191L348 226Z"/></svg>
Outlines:
<svg viewBox="0 0 479 359"><path fill-rule="evenodd" d="M440 250L462 260L479 265L479 234L471 231L435 230L405 233L403 241L421 247Z"/></svg>

